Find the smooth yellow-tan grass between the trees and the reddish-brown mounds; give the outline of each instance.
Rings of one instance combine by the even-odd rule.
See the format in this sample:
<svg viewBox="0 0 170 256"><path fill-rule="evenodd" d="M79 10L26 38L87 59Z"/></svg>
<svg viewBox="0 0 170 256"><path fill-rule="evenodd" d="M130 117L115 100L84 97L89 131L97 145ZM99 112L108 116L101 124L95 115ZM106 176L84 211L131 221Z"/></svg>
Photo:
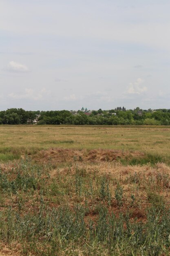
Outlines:
<svg viewBox="0 0 170 256"><path fill-rule="evenodd" d="M116 149L170 157L164 126L0 126L0 159L49 148Z"/></svg>

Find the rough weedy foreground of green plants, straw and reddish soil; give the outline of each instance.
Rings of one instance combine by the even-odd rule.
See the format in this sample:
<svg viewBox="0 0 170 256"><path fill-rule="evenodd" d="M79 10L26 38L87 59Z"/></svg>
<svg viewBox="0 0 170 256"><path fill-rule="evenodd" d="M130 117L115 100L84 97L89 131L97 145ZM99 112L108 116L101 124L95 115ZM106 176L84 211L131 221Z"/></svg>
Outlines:
<svg viewBox="0 0 170 256"><path fill-rule="evenodd" d="M170 168L1 164L1 249L13 255L169 255Z"/></svg>

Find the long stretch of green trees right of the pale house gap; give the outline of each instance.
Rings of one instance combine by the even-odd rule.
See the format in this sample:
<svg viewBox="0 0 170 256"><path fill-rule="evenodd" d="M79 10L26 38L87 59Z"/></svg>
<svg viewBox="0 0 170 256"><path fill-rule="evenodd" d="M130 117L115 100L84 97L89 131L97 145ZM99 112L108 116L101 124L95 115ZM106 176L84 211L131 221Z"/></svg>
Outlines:
<svg viewBox="0 0 170 256"><path fill-rule="evenodd" d="M118 107L112 110L93 110L91 114L77 111L74 115L67 110L41 112L38 124L75 125L170 125L170 110L134 110Z"/></svg>

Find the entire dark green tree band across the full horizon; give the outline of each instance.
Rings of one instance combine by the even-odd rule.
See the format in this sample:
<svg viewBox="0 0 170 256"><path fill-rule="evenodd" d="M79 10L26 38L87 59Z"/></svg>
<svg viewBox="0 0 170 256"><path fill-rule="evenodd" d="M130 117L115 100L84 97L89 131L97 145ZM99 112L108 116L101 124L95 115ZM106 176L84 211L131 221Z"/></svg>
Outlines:
<svg viewBox="0 0 170 256"><path fill-rule="evenodd" d="M10 108L0 111L0 124L74 124L74 125L170 125L170 109L142 110L139 107L126 110L78 111L26 111Z"/></svg>

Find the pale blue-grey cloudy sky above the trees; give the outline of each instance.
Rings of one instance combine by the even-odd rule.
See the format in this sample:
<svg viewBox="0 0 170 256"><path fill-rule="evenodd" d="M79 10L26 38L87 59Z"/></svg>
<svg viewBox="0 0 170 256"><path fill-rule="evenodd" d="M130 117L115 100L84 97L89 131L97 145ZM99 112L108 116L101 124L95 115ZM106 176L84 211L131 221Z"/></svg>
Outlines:
<svg viewBox="0 0 170 256"><path fill-rule="evenodd" d="M169 0L0 0L0 110L170 108Z"/></svg>

